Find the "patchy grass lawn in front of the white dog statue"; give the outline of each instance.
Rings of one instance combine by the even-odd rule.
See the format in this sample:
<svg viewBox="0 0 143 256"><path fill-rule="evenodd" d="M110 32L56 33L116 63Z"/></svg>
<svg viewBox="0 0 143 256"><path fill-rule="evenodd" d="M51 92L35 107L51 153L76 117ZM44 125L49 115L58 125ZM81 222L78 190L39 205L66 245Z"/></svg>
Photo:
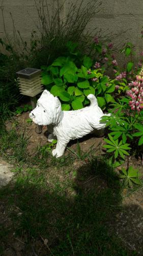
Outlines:
<svg viewBox="0 0 143 256"><path fill-rule="evenodd" d="M1 137L0 152L14 163L15 182L0 190L10 218L0 232L0 255L11 237L23 241L24 255L128 255L108 229L122 197L107 161L92 156L76 167L72 155L57 160L38 150L32 157L27 145L15 129Z"/></svg>

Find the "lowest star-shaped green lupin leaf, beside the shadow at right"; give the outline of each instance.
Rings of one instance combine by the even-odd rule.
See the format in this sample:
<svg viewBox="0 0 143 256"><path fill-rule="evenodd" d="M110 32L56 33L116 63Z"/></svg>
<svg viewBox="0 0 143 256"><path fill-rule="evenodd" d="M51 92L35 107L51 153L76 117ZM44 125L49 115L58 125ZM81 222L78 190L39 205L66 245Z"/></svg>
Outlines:
<svg viewBox="0 0 143 256"><path fill-rule="evenodd" d="M139 179L142 174L130 166L128 169L122 168L119 178L122 179L125 187L133 187L133 184L142 185L142 181Z"/></svg>

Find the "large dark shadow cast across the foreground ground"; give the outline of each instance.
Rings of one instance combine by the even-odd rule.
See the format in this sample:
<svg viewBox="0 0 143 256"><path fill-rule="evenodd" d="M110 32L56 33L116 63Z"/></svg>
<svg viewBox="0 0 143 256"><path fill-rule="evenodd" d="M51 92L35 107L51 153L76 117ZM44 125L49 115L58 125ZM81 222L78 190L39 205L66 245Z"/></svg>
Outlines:
<svg viewBox="0 0 143 256"><path fill-rule="evenodd" d="M125 218L122 212L134 205L122 209L121 204L116 174L96 158L78 167L69 182L44 186L19 177L1 189L0 255L137 255L139 240L134 241L138 248L130 247L132 239L126 243L119 232L123 225L131 237L133 216Z"/></svg>

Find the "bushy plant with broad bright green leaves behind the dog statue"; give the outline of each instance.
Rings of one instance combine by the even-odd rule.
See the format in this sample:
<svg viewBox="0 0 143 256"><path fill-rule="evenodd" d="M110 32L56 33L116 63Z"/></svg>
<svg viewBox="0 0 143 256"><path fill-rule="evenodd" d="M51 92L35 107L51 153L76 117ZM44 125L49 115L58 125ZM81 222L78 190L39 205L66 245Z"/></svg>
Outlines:
<svg viewBox="0 0 143 256"><path fill-rule="evenodd" d="M62 102L62 110L78 110L89 104L87 96L94 94L98 104L105 109L114 99L113 80L104 75L102 69L92 69L93 61L84 56L83 65L77 68L72 58L59 57L49 66L42 66L42 84Z"/></svg>

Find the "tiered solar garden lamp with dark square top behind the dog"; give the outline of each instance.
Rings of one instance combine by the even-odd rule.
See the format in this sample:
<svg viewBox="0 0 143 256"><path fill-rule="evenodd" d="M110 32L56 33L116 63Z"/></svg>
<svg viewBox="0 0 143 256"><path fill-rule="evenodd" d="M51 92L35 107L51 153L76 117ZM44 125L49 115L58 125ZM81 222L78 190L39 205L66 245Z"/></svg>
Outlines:
<svg viewBox="0 0 143 256"><path fill-rule="evenodd" d="M26 68L16 72L16 74L18 76L20 94L30 96L32 108L35 109L37 103L36 95L43 91L41 70ZM37 125L36 132L42 132L41 125Z"/></svg>

